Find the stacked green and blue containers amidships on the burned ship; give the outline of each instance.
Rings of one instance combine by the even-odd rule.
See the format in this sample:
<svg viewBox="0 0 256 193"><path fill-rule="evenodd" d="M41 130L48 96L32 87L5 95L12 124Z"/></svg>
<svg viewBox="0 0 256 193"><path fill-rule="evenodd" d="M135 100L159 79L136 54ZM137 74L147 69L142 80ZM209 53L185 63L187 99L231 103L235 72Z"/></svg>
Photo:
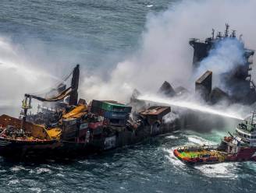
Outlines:
<svg viewBox="0 0 256 193"><path fill-rule="evenodd" d="M132 107L112 100L93 100L91 103L91 113L104 117L109 125L126 125L131 110Z"/></svg>

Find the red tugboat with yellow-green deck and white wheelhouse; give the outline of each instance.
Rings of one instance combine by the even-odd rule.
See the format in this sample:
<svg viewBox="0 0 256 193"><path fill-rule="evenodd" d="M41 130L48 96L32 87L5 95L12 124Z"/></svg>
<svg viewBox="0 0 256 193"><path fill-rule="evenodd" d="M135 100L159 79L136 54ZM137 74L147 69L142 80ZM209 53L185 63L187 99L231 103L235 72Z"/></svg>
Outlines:
<svg viewBox="0 0 256 193"><path fill-rule="evenodd" d="M189 164L256 161L256 114L252 112L219 146L182 146L174 155Z"/></svg>

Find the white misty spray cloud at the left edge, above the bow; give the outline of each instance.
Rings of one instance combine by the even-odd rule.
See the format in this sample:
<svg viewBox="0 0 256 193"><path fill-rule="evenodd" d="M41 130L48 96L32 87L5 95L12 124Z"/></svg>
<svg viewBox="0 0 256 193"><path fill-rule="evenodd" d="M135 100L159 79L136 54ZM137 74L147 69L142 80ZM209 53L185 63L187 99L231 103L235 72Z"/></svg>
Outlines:
<svg viewBox="0 0 256 193"><path fill-rule="evenodd" d="M41 93L59 82L58 62L37 44L14 44L8 37L0 38L0 110L18 115L24 93ZM62 69L65 70L62 65ZM36 101L34 101L36 102ZM36 107L36 103L33 103Z"/></svg>

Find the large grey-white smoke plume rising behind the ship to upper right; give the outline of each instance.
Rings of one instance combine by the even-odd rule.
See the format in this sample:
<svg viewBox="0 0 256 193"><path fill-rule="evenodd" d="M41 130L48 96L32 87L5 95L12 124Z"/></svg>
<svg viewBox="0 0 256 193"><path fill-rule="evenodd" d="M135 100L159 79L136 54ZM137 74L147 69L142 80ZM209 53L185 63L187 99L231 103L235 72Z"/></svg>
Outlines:
<svg viewBox="0 0 256 193"><path fill-rule="evenodd" d="M248 47L256 47L252 41L256 27L250 22L256 16L255 5L252 0L182 1L172 4L165 12L149 14L136 54L119 62L107 81L97 75L87 75L83 85L84 96L126 101L134 88L142 93L155 93L165 80L193 91L193 48L188 40L191 37L209 37L212 28L223 31L225 23L229 23L232 29L244 34ZM223 42L212 52L211 58L203 62L203 68L214 65L213 70L219 73L229 71L235 61L241 60L239 48L240 45L233 40ZM233 52L228 60L226 55L230 53L227 51ZM215 83L218 84L218 79Z"/></svg>

